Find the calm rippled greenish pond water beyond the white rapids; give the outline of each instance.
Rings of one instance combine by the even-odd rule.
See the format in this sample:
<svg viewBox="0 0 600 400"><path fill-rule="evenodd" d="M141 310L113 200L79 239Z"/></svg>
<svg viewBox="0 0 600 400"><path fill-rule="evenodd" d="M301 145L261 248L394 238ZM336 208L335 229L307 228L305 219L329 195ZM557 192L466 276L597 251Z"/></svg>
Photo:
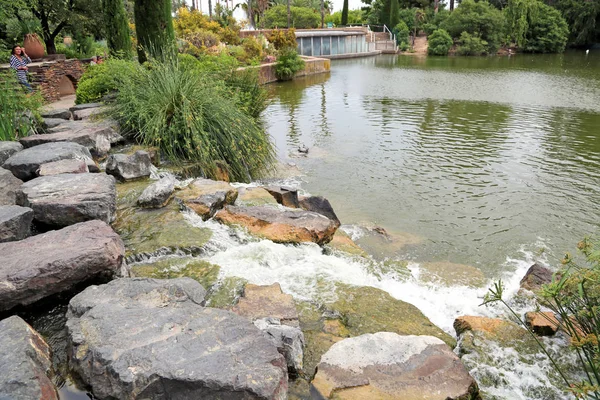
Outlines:
<svg viewBox="0 0 600 400"><path fill-rule="evenodd" d="M599 52L342 60L271 89L269 132L303 188L345 224L422 239L398 256L494 277L523 246L553 263L596 232Z"/></svg>

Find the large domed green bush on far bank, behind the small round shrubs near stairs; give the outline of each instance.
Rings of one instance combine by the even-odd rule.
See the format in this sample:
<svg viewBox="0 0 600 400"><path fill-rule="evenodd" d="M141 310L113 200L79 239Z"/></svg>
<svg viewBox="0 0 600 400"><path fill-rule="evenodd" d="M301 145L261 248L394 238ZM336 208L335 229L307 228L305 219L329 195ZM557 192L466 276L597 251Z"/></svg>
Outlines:
<svg viewBox="0 0 600 400"><path fill-rule="evenodd" d="M487 42L488 53L495 53L502 44L505 25L504 14L487 1L463 0L442 28L455 39L463 32L478 36Z"/></svg>

